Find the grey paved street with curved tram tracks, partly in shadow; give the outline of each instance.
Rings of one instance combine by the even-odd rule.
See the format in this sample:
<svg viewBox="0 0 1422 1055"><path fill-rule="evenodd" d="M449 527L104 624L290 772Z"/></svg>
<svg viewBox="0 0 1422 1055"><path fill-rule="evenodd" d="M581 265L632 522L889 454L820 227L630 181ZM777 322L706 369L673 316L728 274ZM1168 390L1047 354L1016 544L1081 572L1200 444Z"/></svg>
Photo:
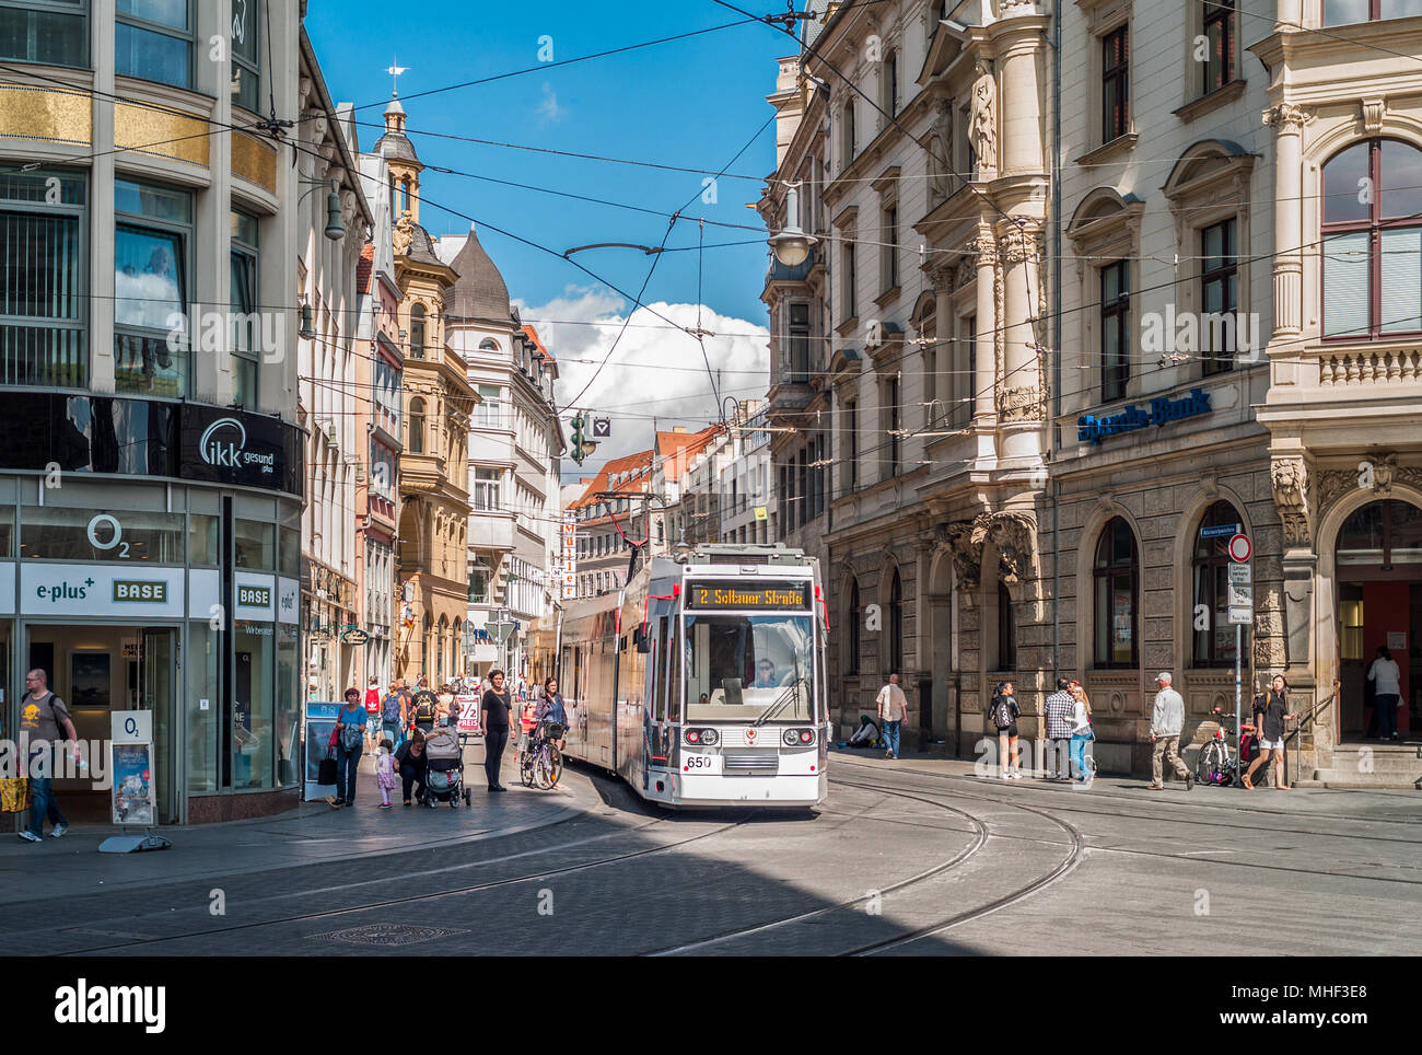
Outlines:
<svg viewBox="0 0 1422 1055"><path fill-rule="evenodd" d="M1422 953L1416 793L1074 791L848 752L830 773L805 818L665 813L574 769L562 819L75 894L63 923L30 887L0 933L98 955L1217 954L1246 933L1276 954Z"/></svg>

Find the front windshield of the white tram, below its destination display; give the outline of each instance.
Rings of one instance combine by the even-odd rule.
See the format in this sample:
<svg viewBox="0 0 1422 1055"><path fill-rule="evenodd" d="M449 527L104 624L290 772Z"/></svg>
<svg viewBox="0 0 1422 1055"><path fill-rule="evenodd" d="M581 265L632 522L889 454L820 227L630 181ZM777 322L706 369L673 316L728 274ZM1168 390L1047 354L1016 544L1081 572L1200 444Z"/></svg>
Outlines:
<svg viewBox="0 0 1422 1055"><path fill-rule="evenodd" d="M812 616L687 616L687 721L813 721Z"/></svg>

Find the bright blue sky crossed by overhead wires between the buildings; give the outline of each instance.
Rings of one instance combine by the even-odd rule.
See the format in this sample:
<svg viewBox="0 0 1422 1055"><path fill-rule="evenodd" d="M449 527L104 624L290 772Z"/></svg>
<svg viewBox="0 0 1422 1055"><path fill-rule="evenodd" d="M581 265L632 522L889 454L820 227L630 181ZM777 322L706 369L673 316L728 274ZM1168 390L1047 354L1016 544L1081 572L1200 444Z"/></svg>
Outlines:
<svg viewBox="0 0 1422 1055"><path fill-rule="evenodd" d="M748 10L778 10L758 0ZM559 158L419 132L720 171L771 115L765 95L775 87L775 58L793 51L788 37L764 24L410 98L459 81L539 65L540 37L552 38L553 58L563 61L738 18L710 0L609 4L410 0L395 6L311 0L306 24L331 95L357 105L377 104L360 112L361 121L381 119L391 84L385 67L398 57L410 68L400 78L400 92L411 138L427 165L660 212L695 199L687 208L691 216L758 226L758 215L745 203L759 196L759 182L722 178L715 188L715 203L708 203L700 196L702 176L694 173ZM401 23L410 30L401 33ZM360 135L363 148L368 148L380 132L361 127ZM732 172L761 178L774 165L772 122ZM444 203L557 252L593 242L657 245L667 226L658 216L435 172L425 173L424 198L421 222L431 235L468 227L465 220L435 208ZM705 253L704 304L724 316L765 323L759 303L766 262L762 239L759 230L705 227L707 243L751 240L752 245ZM570 264L496 232L481 229L481 240L502 270L510 294L525 304L545 306L596 286ZM678 222L668 245L695 243L697 225ZM627 293L637 291L650 263L643 253L616 249L586 252L577 259ZM694 304L697 253L667 253L647 299Z"/></svg>

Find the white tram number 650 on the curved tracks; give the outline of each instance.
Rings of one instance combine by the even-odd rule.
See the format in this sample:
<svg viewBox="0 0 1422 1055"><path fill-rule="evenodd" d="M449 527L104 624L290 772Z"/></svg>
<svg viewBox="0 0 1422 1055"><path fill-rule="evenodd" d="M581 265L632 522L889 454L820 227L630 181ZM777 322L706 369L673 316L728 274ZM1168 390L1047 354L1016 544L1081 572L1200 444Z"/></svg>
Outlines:
<svg viewBox="0 0 1422 1055"><path fill-rule="evenodd" d="M815 559L735 545L677 556L533 627L570 705L566 754L667 806L813 806L829 748Z"/></svg>

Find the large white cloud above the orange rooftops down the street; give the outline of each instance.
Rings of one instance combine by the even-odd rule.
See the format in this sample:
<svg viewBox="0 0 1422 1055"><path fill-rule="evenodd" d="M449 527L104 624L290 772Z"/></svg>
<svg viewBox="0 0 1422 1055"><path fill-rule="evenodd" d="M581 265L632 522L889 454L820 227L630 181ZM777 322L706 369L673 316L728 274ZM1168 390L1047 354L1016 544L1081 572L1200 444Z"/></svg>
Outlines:
<svg viewBox="0 0 1422 1055"><path fill-rule="evenodd" d="M611 418L611 439L602 441L582 469L565 459L565 479L590 476L607 458L648 449L654 427L670 432L674 425L695 429L720 419L698 343L667 321L695 328L695 304L657 301L637 309L627 320L621 297L606 289L576 286L546 304L515 303L523 321L538 328L557 360L557 405L576 398L577 407ZM607 365L599 370L597 364L613 347L624 320L629 321L626 333ZM715 334L705 338L705 350L711 370L721 371L715 385L720 395L764 398L769 387L769 331L765 326L722 316L710 307L701 309L700 326ZM579 395L589 380L587 391ZM570 412L565 422L569 417Z"/></svg>

